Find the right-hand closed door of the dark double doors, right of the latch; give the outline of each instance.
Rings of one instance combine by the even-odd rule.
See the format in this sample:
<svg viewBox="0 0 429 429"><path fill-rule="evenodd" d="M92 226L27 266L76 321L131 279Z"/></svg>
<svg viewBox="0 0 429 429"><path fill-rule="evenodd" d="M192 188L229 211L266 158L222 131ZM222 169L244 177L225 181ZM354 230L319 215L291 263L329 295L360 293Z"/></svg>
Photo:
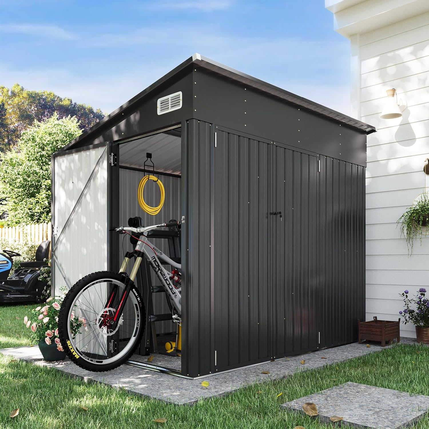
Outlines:
<svg viewBox="0 0 429 429"><path fill-rule="evenodd" d="M273 355L318 344L318 159L276 146Z"/></svg>

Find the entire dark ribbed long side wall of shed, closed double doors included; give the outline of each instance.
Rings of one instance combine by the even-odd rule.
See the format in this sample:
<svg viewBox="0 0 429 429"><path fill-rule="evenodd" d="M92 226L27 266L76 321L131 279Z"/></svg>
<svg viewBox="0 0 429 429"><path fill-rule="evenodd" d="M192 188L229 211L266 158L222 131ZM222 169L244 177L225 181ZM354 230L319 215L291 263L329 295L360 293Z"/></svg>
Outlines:
<svg viewBox="0 0 429 429"><path fill-rule="evenodd" d="M186 374L354 341L364 314L363 167L322 157L319 173L317 156L214 131L216 148L208 124L189 121Z"/></svg>

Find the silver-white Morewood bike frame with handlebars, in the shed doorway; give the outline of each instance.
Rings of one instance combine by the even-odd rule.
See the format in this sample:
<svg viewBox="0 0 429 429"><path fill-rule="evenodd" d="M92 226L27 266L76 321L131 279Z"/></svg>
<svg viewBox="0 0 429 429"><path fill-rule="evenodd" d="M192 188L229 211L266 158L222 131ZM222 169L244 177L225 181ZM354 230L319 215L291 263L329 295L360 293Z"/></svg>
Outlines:
<svg viewBox="0 0 429 429"><path fill-rule="evenodd" d="M127 231L135 234L143 234L140 238L135 237L139 241L137 242L135 253L139 255L141 252L145 254L146 259L151 264L152 269L155 274L159 278L163 288L165 289L167 296L171 299L172 304L178 312L178 316L181 315L181 288L176 288L170 278L172 277L172 273L167 271L160 263L160 259L170 264L171 266L181 269L181 264L174 262L167 255L163 254L158 248L156 248L147 238L147 233L150 230L154 230L156 228L166 227L167 224L159 224L152 225L151 227L139 227L139 228L131 228L131 227L119 227L116 228L116 231ZM128 266L128 262L130 258L125 257L124 262L122 263L121 269L119 272L125 272ZM130 279L132 281L135 280L137 272L140 267L140 263L142 263L142 257L137 256L136 262L134 263L133 269L131 270Z"/></svg>

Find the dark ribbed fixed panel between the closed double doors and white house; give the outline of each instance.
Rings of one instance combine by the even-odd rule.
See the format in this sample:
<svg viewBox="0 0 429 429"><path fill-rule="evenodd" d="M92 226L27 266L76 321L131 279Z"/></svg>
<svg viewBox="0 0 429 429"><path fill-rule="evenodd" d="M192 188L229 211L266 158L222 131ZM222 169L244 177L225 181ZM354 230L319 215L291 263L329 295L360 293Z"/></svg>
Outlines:
<svg viewBox="0 0 429 429"><path fill-rule="evenodd" d="M357 340L365 317L365 171L320 157L320 340Z"/></svg>

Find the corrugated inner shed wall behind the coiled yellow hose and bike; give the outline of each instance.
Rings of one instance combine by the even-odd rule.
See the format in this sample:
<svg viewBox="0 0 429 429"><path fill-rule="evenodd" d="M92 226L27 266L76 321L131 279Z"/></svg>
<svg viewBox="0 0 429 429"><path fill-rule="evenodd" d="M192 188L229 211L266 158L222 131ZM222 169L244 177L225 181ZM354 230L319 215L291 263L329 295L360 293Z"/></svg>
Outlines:
<svg viewBox="0 0 429 429"><path fill-rule="evenodd" d="M122 163L122 146L120 146L120 160ZM179 155L180 160L180 155ZM128 225L128 218L134 216L140 216L143 220L143 225L155 225L162 222L168 222L170 219L180 219L180 178L160 175L165 189L165 202L163 208L157 215L149 215L139 206L137 201L137 188L139 182L145 173L140 171L119 169L119 224L122 226ZM160 192L158 185L152 181L149 181L143 191L145 201L152 206L156 206L159 203ZM119 255L120 264L124 260L124 252L131 251L132 245L128 236L124 236L124 242L122 243L122 237L119 241ZM151 240L157 248L169 254L168 244L166 240L154 239ZM128 274L131 272L131 266L128 269ZM159 284L158 278L154 275L151 270L152 284ZM163 293L154 293L154 312L155 314L169 313L169 307L165 295ZM164 321L157 322L156 325L157 333L162 332L173 332L175 331L175 325L172 322Z"/></svg>

